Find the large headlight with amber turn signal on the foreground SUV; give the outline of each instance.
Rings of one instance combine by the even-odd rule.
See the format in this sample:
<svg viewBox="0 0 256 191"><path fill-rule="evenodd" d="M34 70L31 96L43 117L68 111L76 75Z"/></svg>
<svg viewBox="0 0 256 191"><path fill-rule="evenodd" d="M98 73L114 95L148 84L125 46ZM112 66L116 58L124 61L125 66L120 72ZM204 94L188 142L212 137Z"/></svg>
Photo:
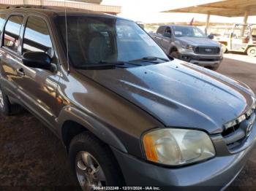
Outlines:
<svg viewBox="0 0 256 191"><path fill-rule="evenodd" d="M215 156L210 137L200 130L165 128L143 136L148 160L165 165L184 165Z"/></svg>

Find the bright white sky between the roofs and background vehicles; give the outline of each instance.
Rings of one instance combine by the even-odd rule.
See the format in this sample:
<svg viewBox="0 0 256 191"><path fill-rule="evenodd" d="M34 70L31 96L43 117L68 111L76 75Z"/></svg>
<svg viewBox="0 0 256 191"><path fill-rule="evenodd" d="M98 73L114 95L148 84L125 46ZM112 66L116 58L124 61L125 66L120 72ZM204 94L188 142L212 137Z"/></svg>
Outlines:
<svg viewBox="0 0 256 191"><path fill-rule="evenodd" d="M167 9L189 7L218 0L103 0L102 4L121 6L121 14L134 21L143 23L206 21L206 15L189 13L160 13ZM243 1L243 0L241 0ZM219 17L211 15L211 22L243 23L243 17ZM248 23L256 23L256 16L248 18Z"/></svg>

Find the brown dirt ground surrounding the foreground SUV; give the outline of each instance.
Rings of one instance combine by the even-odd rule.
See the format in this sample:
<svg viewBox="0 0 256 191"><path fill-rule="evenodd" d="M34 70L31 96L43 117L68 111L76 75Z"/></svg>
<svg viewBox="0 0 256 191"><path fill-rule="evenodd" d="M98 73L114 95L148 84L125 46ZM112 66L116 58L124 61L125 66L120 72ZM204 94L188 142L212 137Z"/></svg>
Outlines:
<svg viewBox="0 0 256 191"><path fill-rule="evenodd" d="M227 57L218 71L245 82L256 93L256 64ZM0 190L78 190L61 141L28 112L0 114L0 149ZM255 180L256 148L228 190L255 190Z"/></svg>

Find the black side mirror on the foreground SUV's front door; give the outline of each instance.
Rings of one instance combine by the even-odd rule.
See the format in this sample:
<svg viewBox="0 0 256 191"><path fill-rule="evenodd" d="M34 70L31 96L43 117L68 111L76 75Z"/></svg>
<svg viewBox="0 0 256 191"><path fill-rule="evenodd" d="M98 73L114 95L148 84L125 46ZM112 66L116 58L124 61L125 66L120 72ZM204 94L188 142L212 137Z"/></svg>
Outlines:
<svg viewBox="0 0 256 191"><path fill-rule="evenodd" d="M23 64L36 69L51 69L51 58L45 52L25 52L22 58Z"/></svg>

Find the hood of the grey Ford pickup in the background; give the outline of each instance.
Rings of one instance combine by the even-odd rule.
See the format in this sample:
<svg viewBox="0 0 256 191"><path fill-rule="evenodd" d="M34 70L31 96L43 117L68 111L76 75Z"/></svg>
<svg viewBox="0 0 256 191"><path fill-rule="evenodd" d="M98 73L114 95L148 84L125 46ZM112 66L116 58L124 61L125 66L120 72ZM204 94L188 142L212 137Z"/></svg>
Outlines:
<svg viewBox="0 0 256 191"><path fill-rule="evenodd" d="M208 38L197 38L197 37L179 37L179 40L181 42L184 42L186 44L190 44L192 46L206 46L206 47L220 47L219 42L215 42Z"/></svg>

